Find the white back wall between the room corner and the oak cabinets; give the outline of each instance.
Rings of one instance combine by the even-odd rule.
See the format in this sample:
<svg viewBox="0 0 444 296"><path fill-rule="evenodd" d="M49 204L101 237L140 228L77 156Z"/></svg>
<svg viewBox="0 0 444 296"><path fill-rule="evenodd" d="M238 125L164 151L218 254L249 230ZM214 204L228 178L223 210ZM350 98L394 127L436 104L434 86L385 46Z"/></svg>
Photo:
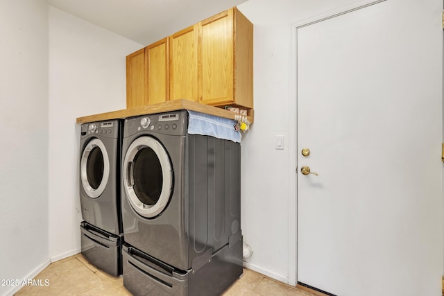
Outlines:
<svg viewBox="0 0 444 296"><path fill-rule="evenodd" d="M126 108L126 60L141 44L49 7L49 257L80 252L76 118Z"/></svg>

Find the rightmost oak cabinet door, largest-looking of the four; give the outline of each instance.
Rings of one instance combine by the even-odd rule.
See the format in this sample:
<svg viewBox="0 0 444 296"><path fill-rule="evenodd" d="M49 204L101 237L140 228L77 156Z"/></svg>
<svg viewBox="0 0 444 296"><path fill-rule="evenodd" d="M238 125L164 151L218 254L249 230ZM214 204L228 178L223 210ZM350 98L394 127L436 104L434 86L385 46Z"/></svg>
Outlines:
<svg viewBox="0 0 444 296"><path fill-rule="evenodd" d="M233 102L233 10L199 23L199 103Z"/></svg>

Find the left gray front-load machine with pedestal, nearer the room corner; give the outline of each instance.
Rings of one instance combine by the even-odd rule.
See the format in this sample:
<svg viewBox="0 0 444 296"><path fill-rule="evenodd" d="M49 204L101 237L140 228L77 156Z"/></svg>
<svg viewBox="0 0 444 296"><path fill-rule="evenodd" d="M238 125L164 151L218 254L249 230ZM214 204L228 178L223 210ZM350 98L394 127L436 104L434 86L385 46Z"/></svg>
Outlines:
<svg viewBox="0 0 444 296"><path fill-rule="evenodd" d="M121 275L121 121L85 123L80 130L82 254L110 275Z"/></svg>

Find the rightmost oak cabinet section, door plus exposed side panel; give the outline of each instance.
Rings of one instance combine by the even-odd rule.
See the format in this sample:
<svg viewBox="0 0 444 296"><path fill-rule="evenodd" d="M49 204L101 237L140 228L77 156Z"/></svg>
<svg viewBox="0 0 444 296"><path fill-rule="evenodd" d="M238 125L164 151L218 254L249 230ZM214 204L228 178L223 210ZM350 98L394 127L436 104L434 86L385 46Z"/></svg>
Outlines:
<svg viewBox="0 0 444 296"><path fill-rule="evenodd" d="M253 24L231 8L199 23L199 103L253 108Z"/></svg>

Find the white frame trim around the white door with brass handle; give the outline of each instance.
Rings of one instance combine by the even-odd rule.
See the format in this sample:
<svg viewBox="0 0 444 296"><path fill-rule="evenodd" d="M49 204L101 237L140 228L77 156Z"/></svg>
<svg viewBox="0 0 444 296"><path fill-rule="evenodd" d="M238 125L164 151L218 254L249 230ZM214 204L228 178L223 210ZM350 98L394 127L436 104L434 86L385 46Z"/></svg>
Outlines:
<svg viewBox="0 0 444 296"><path fill-rule="evenodd" d="M289 119L289 198L288 198L288 284L298 283L298 30L320 21L325 21L345 13L366 8L386 0L355 0L332 10L320 12L306 19L293 21L289 28L289 100L287 105Z"/></svg>

